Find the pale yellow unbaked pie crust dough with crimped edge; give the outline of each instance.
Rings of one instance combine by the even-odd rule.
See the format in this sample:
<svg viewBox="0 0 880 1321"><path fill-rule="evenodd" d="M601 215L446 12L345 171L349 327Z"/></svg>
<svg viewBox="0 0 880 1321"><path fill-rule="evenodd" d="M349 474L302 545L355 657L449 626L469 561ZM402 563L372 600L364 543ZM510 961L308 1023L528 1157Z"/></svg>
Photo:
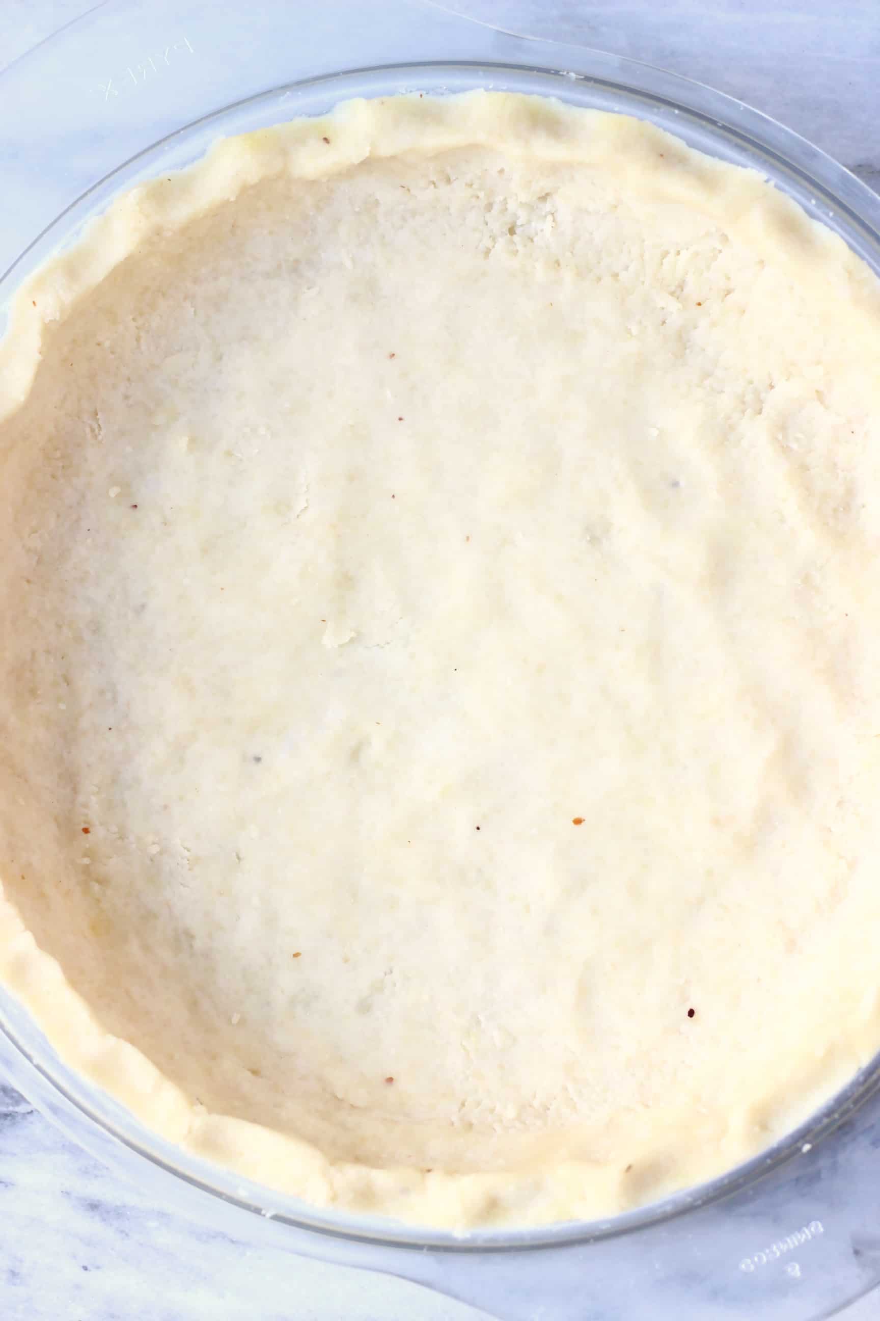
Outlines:
<svg viewBox="0 0 880 1321"><path fill-rule="evenodd" d="M321 1206L765 1147L880 1046L879 363L839 239L550 100L120 198L0 362L8 985Z"/></svg>

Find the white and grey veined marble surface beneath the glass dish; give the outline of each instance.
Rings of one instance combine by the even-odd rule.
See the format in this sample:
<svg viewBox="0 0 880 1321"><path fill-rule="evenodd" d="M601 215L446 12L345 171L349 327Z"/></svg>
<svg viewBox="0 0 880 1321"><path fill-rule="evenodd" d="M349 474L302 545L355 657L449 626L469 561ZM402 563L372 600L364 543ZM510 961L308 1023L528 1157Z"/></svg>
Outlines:
<svg viewBox="0 0 880 1321"><path fill-rule="evenodd" d="M0 67L87 7L88 0L0 0ZM449 8L690 74L880 182L879 0L449 0ZM0 1079L3 1321L482 1316L398 1280L257 1250L160 1210ZM880 1321L875 1295L846 1312L846 1321L869 1318Z"/></svg>

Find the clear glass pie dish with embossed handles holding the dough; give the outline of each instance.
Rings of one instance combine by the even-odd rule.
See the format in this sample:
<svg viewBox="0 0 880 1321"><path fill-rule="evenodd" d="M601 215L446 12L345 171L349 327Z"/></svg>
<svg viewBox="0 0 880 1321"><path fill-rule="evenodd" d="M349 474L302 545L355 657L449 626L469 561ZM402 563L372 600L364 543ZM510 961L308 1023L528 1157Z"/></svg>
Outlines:
<svg viewBox="0 0 880 1321"><path fill-rule="evenodd" d="M15 214L3 296L120 190L211 141L351 96L492 89L636 115L759 169L880 271L880 202L815 148L697 83L530 42L417 0L322 7L110 0L0 79ZM26 124L26 133L12 125ZM817 988L817 995L825 988ZM206 1165L73 1074L0 993L0 1067L83 1147L150 1196L237 1235L409 1277L499 1317L818 1318L880 1279L880 1065L797 1132L714 1181L613 1219L467 1236L318 1213ZM756 1029L757 1030L757 1029Z"/></svg>

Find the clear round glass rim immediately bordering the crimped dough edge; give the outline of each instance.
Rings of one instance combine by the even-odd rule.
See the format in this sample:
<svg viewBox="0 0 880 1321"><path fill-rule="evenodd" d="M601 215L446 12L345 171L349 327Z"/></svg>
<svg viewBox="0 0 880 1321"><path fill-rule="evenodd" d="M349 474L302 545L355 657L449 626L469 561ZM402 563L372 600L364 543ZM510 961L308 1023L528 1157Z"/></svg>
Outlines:
<svg viewBox="0 0 880 1321"><path fill-rule="evenodd" d="M517 38L517 41L522 40ZM557 48L540 38L529 38L529 41L536 54L541 53L542 46L548 52L559 49L571 52L577 55L574 62L584 71L554 69L541 63L486 61L424 59L367 65L281 83L193 119L129 156L70 202L5 271L0 279L0 297L41 264L53 250L61 246L62 240L75 236L82 225L99 214L123 185L131 186L139 178L150 177L157 169L169 168L169 165L177 168L177 156L181 153L186 160L203 155L206 133L214 128L219 129L230 118L235 116L240 120L251 115L256 125L263 111L277 106L281 107L281 114L272 122L278 122L281 118L290 118L292 114L305 112L297 110L296 100L309 92L321 91L329 103L336 103L348 95L361 94L360 89L364 85L372 82L387 85L401 78L409 79L410 86L424 87L426 91L437 90L434 83L442 85L443 90L456 91L466 90L466 86L492 86L513 79L515 82L528 82L538 91L545 89L545 95L557 95L575 104L595 106L603 95L624 96L636 106L644 106L644 118L654 122L658 119L657 111L666 116L679 116L677 123L681 124L681 136L687 139L687 133L681 131L685 129L686 123L691 128L702 131L706 143L702 149L711 151L712 144L716 147L727 145L727 156L719 151L715 155L734 159L744 152L748 157L755 157L756 162L764 161L772 166L774 182L781 181L786 189L790 188L790 193L797 201L809 202L810 214L823 219L831 229L840 232L850 247L863 256L875 271L880 272L880 198L848 170L798 135L759 111L751 110L735 98L716 92L678 74L669 74L646 63L586 48L578 48L575 52L574 48ZM596 69L598 71L594 71ZM619 77L610 77L612 73ZM629 75L632 81L623 79L620 74ZM458 83L462 86L459 87ZM517 87L517 90L524 89ZM703 104L699 104L701 102ZM648 114L649 110L653 110L654 114ZM633 108L633 112L637 114L637 108ZM743 127L736 120L743 122ZM664 124L664 127L670 125ZM234 131L243 129L240 124L236 124ZM198 143L198 149L191 156L186 156L194 140ZM169 156L173 157L170 162ZM107 1098L107 1106L103 1107L98 1089L87 1079L79 1079L70 1074L70 1083L61 1081L69 1073L63 1061L54 1055L45 1040L34 1049L25 1045L25 1038L30 1038L37 1029L26 1011L17 1008L17 1001L13 1001L11 1013L7 1013L7 999L5 993L0 995L0 1030L20 1055L30 1078L37 1075L41 1083L53 1089L80 1120L102 1129L115 1143L149 1161L156 1169L241 1210L272 1217L276 1222L290 1229L336 1240L416 1251L426 1247L439 1252L456 1254L559 1248L567 1244L588 1244L635 1234L660 1222L672 1221L734 1197L745 1188L752 1188L763 1176L792 1159L805 1143L817 1143L827 1137L880 1089L879 1053L842 1091L792 1133L764 1153L708 1184L686 1189L660 1202L610 1219L566 1222L522 1230L474 1231L467 1236L458 1236L450 1231L404 1226L377 1218L339 1213L325 1215L293 1198L274 1194L269 1189L265 1190L265 1196L260 1196L257 1185L248 1184L234 1172L220 1166L208 1166L207 1162L185 1156L172 1144L156 1139L112 1098ZM12 1081L17 1083L15 1077ZM26 1090L28 1079L22 1079L21 1085ZM110 1112L115 1110L117 1114L111 1118L111 1115L98 1114L99 1108L107 1108ZM132 1131L137 1131L137 1136L132 1136ZM77 1140L88 1147L84 1132L78 1132ZM179 1152L177 1157L175 1152ZM195 1172L197 1169L207 1173ZM248 1185L247 1197L241 1196L245 1185ZM282 1202L288 1206L294 1202L296 1209L270 1209Z"/></svg>

